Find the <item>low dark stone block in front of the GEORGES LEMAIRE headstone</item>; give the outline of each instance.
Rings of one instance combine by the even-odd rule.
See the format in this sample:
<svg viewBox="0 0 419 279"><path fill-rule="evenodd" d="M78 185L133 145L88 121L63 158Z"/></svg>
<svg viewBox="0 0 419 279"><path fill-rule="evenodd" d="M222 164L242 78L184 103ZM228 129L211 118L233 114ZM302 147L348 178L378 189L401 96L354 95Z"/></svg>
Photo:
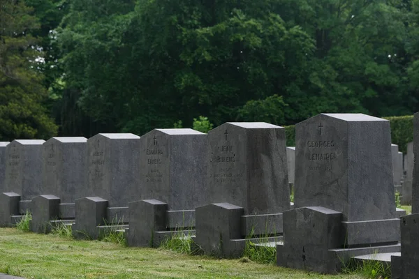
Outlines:
<svg viewBox="0 0 419 279"><path fill-rule="evenodd" d="M284 246L277 246L277 265L319 273L339 267L329 249L344 243L342 213L320 206L284 211Z"/></svg>

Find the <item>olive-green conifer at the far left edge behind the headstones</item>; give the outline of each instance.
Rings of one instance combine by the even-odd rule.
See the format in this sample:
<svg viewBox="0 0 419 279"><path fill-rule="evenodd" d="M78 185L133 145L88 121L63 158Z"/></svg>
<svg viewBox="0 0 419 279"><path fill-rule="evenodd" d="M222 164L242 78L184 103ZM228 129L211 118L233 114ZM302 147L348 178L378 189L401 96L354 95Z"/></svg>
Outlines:
<svg viewBox="0 0 419 279"><path fill-rule="evenodd" d="M38 67L43 53L30 32L38 29L22 1L0 0L0 139L44 138L57 133L43 102L47 91Z"/></svg>

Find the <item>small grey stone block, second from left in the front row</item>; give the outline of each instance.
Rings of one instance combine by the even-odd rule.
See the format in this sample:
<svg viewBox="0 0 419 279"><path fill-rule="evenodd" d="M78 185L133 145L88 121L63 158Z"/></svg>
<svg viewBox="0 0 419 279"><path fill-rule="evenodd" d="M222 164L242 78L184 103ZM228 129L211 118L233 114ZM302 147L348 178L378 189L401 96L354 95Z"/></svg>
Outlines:
<svg viewBox="0 0 419 279"><path fill-rule="evenodd" d="M44 233L51 231L50 220L59 218L59 197L54 195L40 195L31 202L31 231Z"/></svg>

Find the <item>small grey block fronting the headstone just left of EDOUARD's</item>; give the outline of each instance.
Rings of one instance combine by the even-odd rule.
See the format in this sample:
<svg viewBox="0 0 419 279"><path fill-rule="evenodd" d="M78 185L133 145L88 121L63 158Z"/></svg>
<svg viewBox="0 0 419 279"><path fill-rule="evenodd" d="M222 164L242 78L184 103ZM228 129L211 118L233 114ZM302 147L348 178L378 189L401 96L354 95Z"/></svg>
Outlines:
<svg viewBox="0 0 419 279"><path fill-rule="evenodd" d="M97 226L104 225L108 201L101 197L83 197L75 200L75 238L97 239Z"/></svg>

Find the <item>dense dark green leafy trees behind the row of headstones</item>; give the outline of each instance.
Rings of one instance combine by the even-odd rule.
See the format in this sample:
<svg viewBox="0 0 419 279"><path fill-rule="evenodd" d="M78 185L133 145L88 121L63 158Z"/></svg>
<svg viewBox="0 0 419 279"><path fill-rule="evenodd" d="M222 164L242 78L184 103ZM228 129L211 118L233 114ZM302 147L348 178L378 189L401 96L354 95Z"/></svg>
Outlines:
<svg viewBox="0 0 419 279"><path fill-rule="evenodd" d="M3 2L26 7L24 36L6 20L36 53L21 73L40 89L22 94L60 135L419 110L418 0Z"/></svg>

